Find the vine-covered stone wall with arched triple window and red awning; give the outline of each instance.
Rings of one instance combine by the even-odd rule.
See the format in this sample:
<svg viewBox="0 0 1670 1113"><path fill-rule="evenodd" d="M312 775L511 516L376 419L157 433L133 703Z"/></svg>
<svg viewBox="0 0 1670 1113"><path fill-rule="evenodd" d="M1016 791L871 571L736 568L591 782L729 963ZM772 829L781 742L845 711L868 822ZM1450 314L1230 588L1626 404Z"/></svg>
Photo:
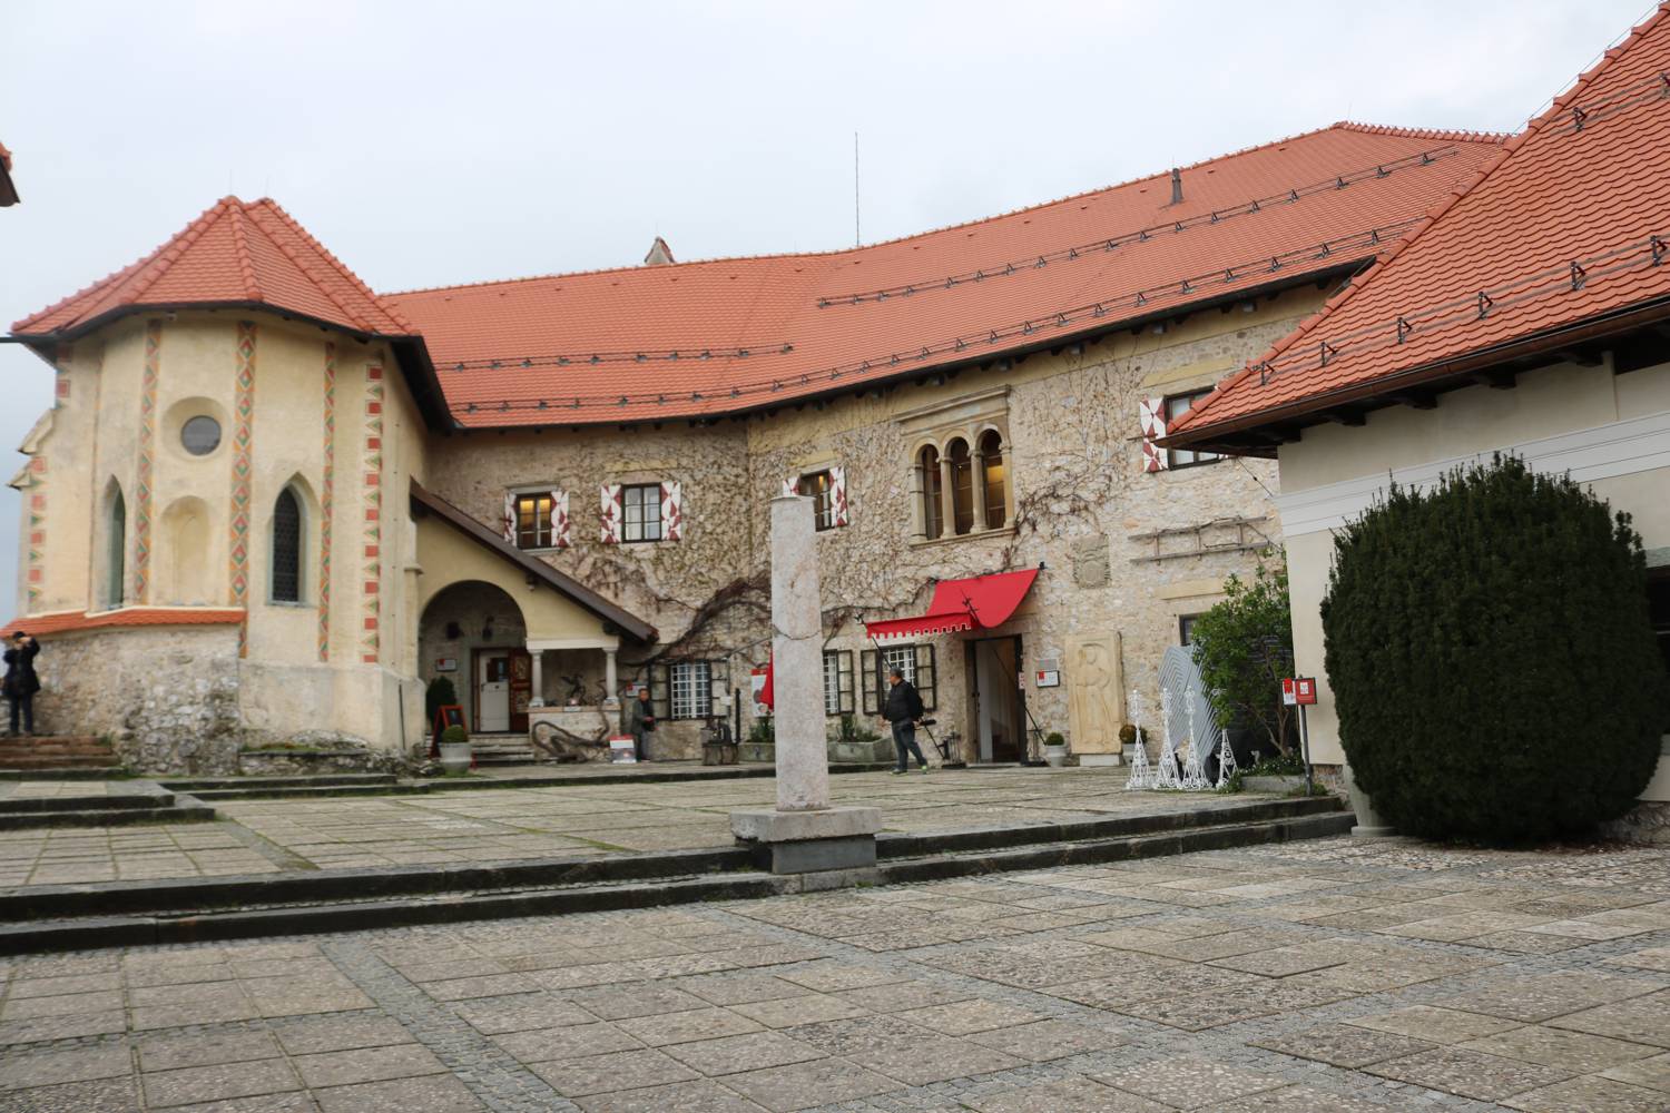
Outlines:
<svg viewBox="0 0 1670 1113"><path fill-rule="evenodd" d="M768 656L765 507L790 476L840 466L850 524L820 532L817 544L827 647L852 652L855 711L862 716L865 619L920 614L935 579L1042 564L1030 599L992 632L1024 639L1027 674L1044 659L1060 662L1060 687L1025 691L1037 729L1060 731L1079 749L1092 748L1094 733L1117 749L1106 736L1124 721L1124 691L1144 687L1154 703L1159 657L1177 644L1179 617L1209 607L1226 576L1249 574L1259 549L1281 544L1274 464L1144 472L1137 404L1211 385L1284 335L1321 295L1308 285L1024 360L716 424L436 439L431 486L484 522L499 521L509 489L566 489L573 544L539 556L660 631L646 649L623 644L621 682L643 679L653 662L706 659L728 687L746 692L750 669ZM1005 432L1012 516L1002 529L922 541L913 447L959 422ZM601 484L666 479L683 484L683 541L600 542ZM974 759L969 649L957 637L932 644L937 729L957 731ZM1094 691L1080 686L1069 711L1074 676L1092 669ZM698 756L698 728L665 723L658 753Z"/></svg>

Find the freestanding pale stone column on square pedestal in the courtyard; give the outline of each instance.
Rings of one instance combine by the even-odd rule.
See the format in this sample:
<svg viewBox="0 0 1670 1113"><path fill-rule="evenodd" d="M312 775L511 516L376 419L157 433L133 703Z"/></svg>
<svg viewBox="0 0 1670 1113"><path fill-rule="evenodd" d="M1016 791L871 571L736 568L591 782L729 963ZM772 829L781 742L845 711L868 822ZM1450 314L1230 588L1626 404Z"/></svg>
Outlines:
<svg viewBox="0 0 1670 1113"><path fill-rule="evenodd" d="M773 873L805 888L873 879L877 808L830 808L823 739L823 616L812 499L772 499L772 691L777 809L733 811L731 833Z"/></svg>

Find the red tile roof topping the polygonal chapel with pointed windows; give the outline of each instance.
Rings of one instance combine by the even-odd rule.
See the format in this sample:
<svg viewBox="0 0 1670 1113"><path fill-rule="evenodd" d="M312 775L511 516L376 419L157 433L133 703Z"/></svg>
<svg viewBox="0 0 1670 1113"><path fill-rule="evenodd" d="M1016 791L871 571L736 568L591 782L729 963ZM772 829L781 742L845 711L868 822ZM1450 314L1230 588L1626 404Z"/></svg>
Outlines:
<svg viewBox="0 0 1670 1113"><path fill-rule="evenodd" d="M12 325L68 337L115 314L182 305L269 305L351 332L412 327L269 199L224 197L134 265Z"/></svg>

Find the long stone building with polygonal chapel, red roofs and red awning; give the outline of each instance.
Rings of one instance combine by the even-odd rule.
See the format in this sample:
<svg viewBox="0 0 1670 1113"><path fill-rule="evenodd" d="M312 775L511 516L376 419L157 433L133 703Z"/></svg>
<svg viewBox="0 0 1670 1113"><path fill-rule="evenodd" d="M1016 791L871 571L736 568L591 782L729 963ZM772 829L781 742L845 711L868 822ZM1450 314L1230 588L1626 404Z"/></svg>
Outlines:
<svg viewBox="0 0 1670 1113"><path fill-rule="evenodd" d="M40 709L219 769L421 746L443 676L473 729L564 738L645 682L656 756L693 756L716 698L753 718L793 487L832 733L900 664L957 756L1109 759L1124 692L1281 544L1271 462L1156 439L1500 144L1341 123L843 252L406 294L225 199L13 325L57 374L13 481Z"/></svg>

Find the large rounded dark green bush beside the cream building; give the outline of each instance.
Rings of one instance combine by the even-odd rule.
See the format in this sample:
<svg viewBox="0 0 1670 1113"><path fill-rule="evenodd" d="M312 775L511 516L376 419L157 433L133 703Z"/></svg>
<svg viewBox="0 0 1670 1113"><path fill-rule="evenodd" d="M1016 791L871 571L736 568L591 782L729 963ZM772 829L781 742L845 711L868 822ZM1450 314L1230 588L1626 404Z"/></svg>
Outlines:
<svg viewBox="0 0 1670 1113"><path fill-rule="evenodd" d="M1518 459L1393 487L1334 537L1339 741L1399 831L1523 841L1630 809L1665 669L1627 514Z"/></svg>

